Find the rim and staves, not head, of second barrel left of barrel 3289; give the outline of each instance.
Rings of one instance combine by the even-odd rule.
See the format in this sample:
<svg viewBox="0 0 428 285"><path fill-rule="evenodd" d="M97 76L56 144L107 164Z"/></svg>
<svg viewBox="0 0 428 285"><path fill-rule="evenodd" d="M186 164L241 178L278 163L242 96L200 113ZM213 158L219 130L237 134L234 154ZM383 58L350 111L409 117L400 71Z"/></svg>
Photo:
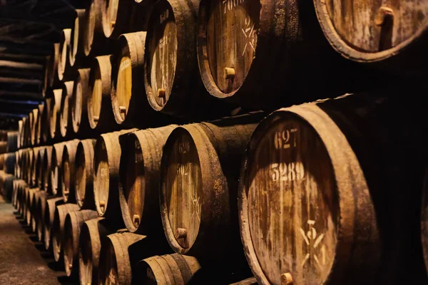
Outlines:
<svg viewBox="0 0 428 285"><path fill-rule="evenodd" d="M163 146L170 133L176 127L178 126L168 125L163 128L137 130L119 137L121 143L121 160L119 165L118 197L122 219L129 232L136 232L138 234L150 233L151 236L156 232L160 232L162 222L161 219L158 219L160 211L159 204L153 201L157 201L159 196L159 170L161 168ZM143 186L145 190L144 201L142 202L143 211L139 213L140 222L138 222L138 226L134 224L133 218L131 218L128 201L124 194L125 190L123 189L124 187L126 188L126 177L130 175L126 168L128 151L134 150L131 146L135 145L136 142L141 146L145 182Z"/></svg>

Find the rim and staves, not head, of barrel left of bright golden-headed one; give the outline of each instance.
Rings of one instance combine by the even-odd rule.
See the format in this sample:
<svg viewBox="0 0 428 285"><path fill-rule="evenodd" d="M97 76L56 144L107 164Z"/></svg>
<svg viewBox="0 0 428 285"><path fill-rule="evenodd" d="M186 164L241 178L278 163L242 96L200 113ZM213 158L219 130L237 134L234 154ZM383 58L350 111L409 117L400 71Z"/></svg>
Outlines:
<svg viewBox="0 0 428 285"><path fill-rule="evenodd" d="M113 109L111 106L110 90L111 90L111 61L112 55L97 56L93 60L91 66L91 73L89 75L89 96L88 96L88 120L92 130L98 133L106 133L108 131L117 130L118 126L113 117ZM94 76L96 73L100 74L102 82L101 92L101 108L99 113L98 122L94 120L93 115L93 84Z"/></svg>

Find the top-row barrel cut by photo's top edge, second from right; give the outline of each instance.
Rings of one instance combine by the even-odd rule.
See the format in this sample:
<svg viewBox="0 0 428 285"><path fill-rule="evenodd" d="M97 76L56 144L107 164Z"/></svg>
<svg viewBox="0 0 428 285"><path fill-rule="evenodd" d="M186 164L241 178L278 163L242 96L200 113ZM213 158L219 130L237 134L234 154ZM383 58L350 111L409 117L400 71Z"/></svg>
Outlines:
<svg viewBox="0 0 428 285"><path fill-rule="evenodd" d="M85 32L83 38L83 53L85 56L107 54L110 46L103 32L102 2L91 0L85 11Z"/></svg>

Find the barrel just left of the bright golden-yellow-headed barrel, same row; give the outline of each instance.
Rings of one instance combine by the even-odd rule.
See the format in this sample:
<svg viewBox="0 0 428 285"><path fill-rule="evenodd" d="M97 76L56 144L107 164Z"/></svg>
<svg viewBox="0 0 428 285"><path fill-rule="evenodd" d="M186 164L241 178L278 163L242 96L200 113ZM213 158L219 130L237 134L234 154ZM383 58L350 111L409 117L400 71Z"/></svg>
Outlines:
<svg viewBox="0 0 428 285"><path fill-rule="evenodd" d="M111 59L111 55L97 56L89 74L88 120L99 133L117 129L110 99Z"/></svg>

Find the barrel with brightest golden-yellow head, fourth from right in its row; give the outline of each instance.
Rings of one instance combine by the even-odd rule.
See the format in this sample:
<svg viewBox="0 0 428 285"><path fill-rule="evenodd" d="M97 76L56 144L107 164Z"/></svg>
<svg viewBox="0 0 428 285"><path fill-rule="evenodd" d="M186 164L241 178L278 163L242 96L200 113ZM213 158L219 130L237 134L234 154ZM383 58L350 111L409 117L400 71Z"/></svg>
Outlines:
<svg viewBox="0 0 428 285"><path fill-rule="evenodd" d="M123 1L121 1L123 2ZM146 32L125 33L118 39L112 66L111 104L116 123L132 126L147 117L149 110L141 84Z"/></svg>

